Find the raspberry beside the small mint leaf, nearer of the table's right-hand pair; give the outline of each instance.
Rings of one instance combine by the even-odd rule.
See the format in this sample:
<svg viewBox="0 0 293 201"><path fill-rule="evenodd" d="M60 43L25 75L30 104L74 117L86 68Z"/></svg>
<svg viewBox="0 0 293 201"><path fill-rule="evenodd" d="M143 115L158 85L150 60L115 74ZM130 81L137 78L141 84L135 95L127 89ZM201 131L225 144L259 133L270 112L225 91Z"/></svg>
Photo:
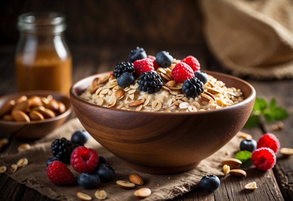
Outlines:
<svg viewBox="0 0 293 201"><path fill-rule="evenodd" d="M251 161L259 170L267 171L276 164L276 155L272 149L261 147L252 152Z"/></svg>

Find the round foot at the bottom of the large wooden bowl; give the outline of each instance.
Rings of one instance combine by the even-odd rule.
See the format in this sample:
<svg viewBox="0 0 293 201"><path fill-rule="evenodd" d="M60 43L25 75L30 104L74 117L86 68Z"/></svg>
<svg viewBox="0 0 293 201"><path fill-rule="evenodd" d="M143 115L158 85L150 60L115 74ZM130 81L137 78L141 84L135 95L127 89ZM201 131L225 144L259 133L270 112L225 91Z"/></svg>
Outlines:
<svg viewBox="0 0 293 201"><path fill-rule="evenodd" d="M132 163L125 162L126 165L131 167L134 170L138 170L145 173L150 174L176 174L181 172L186 172L188 170L191 170L195 168L200 162L185 165L185 166L179 166L179 167L148 167L148 166L140 166Z"/></svg>

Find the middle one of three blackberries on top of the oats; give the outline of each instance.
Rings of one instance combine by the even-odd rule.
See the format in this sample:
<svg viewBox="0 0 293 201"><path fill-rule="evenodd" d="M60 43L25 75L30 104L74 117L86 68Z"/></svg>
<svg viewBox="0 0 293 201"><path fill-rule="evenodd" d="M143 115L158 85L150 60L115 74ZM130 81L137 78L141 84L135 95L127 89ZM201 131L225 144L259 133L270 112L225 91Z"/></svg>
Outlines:
<svg viewBox="0 0 293 201"><path fill-rule="evenodd" d="M147 71L140 74L137 80L140 91L154 93L159 91L163 85L161 77L155 72Z"/></svg>

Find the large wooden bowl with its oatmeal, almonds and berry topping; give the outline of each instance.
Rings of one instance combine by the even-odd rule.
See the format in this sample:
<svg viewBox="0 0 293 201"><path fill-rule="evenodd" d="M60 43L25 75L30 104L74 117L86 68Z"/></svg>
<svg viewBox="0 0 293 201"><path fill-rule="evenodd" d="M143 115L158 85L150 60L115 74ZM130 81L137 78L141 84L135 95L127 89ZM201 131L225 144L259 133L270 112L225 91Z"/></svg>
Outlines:
<svg viewBox="0 0 293 201"><path fill-rule="evenodd" d="M193 56L137 47L113 71L76 82L73 109L103 147L142 172L196 167L242 129L255 90L237 77L201 71Z"/></svg>

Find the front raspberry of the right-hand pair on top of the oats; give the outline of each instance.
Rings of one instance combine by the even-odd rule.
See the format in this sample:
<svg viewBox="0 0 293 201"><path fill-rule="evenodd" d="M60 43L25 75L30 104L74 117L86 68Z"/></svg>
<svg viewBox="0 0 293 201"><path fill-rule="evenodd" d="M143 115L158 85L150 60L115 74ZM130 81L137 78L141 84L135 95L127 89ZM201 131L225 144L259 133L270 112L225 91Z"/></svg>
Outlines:
<svg viewBox="0 0 293 201"><path fill-rule="evenodd" d="M190 79L194 77L193 70L188 64L184 62L179 62L172 69L171 72L172 79L176 82L183 82L186 79Z"/></svg>

